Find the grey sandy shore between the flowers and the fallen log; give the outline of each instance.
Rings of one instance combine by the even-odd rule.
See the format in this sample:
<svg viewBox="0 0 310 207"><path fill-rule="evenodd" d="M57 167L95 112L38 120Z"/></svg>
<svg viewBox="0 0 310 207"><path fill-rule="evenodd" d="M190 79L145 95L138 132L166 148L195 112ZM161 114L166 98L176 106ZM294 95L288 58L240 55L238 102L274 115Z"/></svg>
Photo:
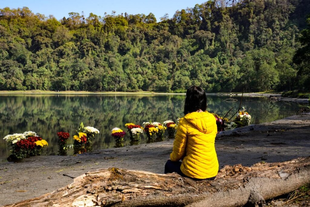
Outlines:
<svg viewBox="0 0 310 207"><path fill-rule="evenodd" d="M173 141L98 150L76 156L37 156L0 164L0 206L64 187L95 169L117 167L163 173ZM310 155L310 114L219 133L215 147L224 165L282 162ZM68 177L70 176L70 177ZM310 204L309 204L310 205Z"/></svg>

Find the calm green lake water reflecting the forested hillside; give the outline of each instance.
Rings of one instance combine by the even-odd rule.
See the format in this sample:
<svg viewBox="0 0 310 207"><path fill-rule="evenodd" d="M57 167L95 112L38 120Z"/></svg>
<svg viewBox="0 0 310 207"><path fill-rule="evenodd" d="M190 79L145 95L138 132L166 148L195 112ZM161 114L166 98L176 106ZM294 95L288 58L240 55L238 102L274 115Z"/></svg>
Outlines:
<svg viewBox="0 0 310 207"><path fill-rule="evenodd" d="M239 108L241 96L236 102L223 101L229 97L207 95L207 110L220 116L234 107L229 119ZM57 132L69 132L72 137L81 122L100 131L93 142L93 150L113 148L111 129L122 128L133 122L164 122L183 116L185 95L115 95L115 94L20 94L0 95L0 162L6 162L11 154L2 139L7 134L34 131L49 146L42 155L57 155ZM244 106L252 116L251 124L260 124L297 114L301 105L285 101L270 102L264 97L243 97ZM68 144L72 144L72 138ZM141 143L146 143L142 136ZM124 146L129 145L125 135ZM69 152L68 154L70 154ZM73 153L73 151L72 151Z"/></svg>

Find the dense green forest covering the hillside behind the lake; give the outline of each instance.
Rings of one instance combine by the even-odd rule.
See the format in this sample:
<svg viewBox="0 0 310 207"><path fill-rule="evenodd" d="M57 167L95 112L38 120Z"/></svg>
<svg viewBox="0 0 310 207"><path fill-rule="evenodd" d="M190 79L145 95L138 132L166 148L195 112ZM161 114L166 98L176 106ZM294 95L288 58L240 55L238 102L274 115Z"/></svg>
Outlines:
<svg viewBox="0 0 310 207"><path fill-rule="evenodd" d="M160 22L115 11L58 21L6 7L0 90L310 90L309 11L309 0L217 0Z"/></svg>

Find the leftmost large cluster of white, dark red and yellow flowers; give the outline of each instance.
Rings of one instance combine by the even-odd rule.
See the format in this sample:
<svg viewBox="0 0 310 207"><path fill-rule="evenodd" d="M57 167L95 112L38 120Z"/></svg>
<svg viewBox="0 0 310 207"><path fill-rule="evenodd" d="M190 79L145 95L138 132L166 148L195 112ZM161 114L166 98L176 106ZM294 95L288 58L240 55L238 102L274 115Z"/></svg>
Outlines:
<svg viewBox="0 0 310 207"><path fill-rule="evenodd" d="M47 141L33 131L9 134L3 139L7 141L10 151L17 160L41 155L43 147L48 146Z"/></svg>

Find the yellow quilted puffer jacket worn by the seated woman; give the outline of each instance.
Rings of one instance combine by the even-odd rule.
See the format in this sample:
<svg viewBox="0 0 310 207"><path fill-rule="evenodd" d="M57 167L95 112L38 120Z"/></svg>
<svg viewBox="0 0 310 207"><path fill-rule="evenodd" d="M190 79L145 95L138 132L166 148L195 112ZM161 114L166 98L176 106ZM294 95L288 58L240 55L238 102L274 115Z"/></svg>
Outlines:
<svg viewBox="0 0 310 207"><path fill-rule="evenodd" d="M205 179L217 175L214 141L217 134L215 117L209 112L192 112L180 119L171 161L182 159L181 171L190 178Z"/></svg>

